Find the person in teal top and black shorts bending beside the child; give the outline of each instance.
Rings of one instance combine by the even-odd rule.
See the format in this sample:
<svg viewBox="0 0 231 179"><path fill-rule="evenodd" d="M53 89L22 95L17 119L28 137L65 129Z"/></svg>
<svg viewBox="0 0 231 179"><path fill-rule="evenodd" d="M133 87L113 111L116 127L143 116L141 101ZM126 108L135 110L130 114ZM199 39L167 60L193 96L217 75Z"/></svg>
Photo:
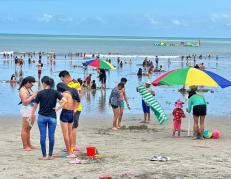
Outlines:
<svg viewBox="0 0 231 179"><path fill-rule="evenodd" d="M205 101L205 98L202 95L197 94L196 91L197 87L193 86L188 92L189 100L187 111L188 113L190 113L191 110L193 111L193 139L203 139L204 121L207 112L207 102ZM200 123L200 127L198 123Z"/></svg>

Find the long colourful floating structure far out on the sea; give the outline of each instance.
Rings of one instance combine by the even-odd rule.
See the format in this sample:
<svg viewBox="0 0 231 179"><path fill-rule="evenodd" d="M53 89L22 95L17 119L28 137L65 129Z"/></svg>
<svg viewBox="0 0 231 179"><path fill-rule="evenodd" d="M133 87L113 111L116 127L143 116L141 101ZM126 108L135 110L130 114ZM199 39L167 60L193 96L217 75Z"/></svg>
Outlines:
<svg viewBox="0 0 231 179"><path fill-rule="evenodd" d="M201 41L199 40L197 43L160 41L160 42L155 42L154 46L160 46L160 47L200 47Z"/></svg>

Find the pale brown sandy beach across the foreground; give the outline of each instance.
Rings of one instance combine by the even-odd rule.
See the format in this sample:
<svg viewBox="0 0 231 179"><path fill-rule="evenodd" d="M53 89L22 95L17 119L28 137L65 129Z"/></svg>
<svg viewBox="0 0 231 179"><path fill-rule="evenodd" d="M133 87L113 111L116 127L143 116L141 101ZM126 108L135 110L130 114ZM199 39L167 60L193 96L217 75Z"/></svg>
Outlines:
<svg viewBox="0 0 231 179"><path fill-rule="evenodd" d="M190 116L188 116L190 117ZM100 158L69 164L71 159L40 161L40 150L24 152L20 139L20 117L1 117L0 178L230 178L230 117L208 116L206 129L218 129L218 140L192 140L187 136L187 119L182 137L172 138L172 120L164 125L152 120L142 126L142 116L125 115L124 128L111 130L112 116L82 116L79 127L79 157L85 158L86 147L96 146ZM191 121L192 122L192 121ZM147 127L146 127L147 126ZM39 147L37 124L32 128L32 142ZM48 145L48 144L47 144ZM64 142L60 126L56 130L54 154L61 155ZM154 155L170 157L167 162L150 161Z"/></svg>

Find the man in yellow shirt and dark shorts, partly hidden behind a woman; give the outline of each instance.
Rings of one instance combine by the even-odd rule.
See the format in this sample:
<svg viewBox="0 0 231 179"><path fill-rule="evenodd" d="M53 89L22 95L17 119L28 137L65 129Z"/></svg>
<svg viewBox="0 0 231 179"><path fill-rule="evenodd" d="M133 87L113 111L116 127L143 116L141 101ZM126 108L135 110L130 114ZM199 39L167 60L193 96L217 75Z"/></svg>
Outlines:
<svg viewBox="0 0 231 179"><path fill-rule="evenodd" d="M61 79L61 81L63 83L65 83L68 87L70 88L75 88L78 92L79 92L79 97L81 99L82 97L82 90L81 90L81 85L78 81L74 80L70 73L66 70L63 70L59 73L59 78ZM79 126L79 117L80 117L80 114L82 112L82 104L81 102L79 103L79 105L76 107L76 112L74 113L74 121L73 121L73 127L72 127L72 148L74 150L78 150L77 148L77 128Z"/></svg>

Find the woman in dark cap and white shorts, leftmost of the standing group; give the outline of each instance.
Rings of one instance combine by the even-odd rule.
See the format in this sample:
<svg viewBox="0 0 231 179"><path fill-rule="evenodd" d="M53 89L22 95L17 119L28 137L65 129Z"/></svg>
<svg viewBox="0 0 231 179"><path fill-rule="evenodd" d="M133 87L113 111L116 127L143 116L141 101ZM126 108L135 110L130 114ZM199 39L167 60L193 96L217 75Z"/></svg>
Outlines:
<svg viewBox="0 0 231 179"><path fill-rule="evenodd" d="M25 77L19 86L19 97L21 99L20 113L22 115L21 139L23 149L30 151L34 149L30 141L30 129L35 121L35 115L30 117L34 99L38 91L33 92L32 87L35 85L35 78L32 76Z"/></svg>

